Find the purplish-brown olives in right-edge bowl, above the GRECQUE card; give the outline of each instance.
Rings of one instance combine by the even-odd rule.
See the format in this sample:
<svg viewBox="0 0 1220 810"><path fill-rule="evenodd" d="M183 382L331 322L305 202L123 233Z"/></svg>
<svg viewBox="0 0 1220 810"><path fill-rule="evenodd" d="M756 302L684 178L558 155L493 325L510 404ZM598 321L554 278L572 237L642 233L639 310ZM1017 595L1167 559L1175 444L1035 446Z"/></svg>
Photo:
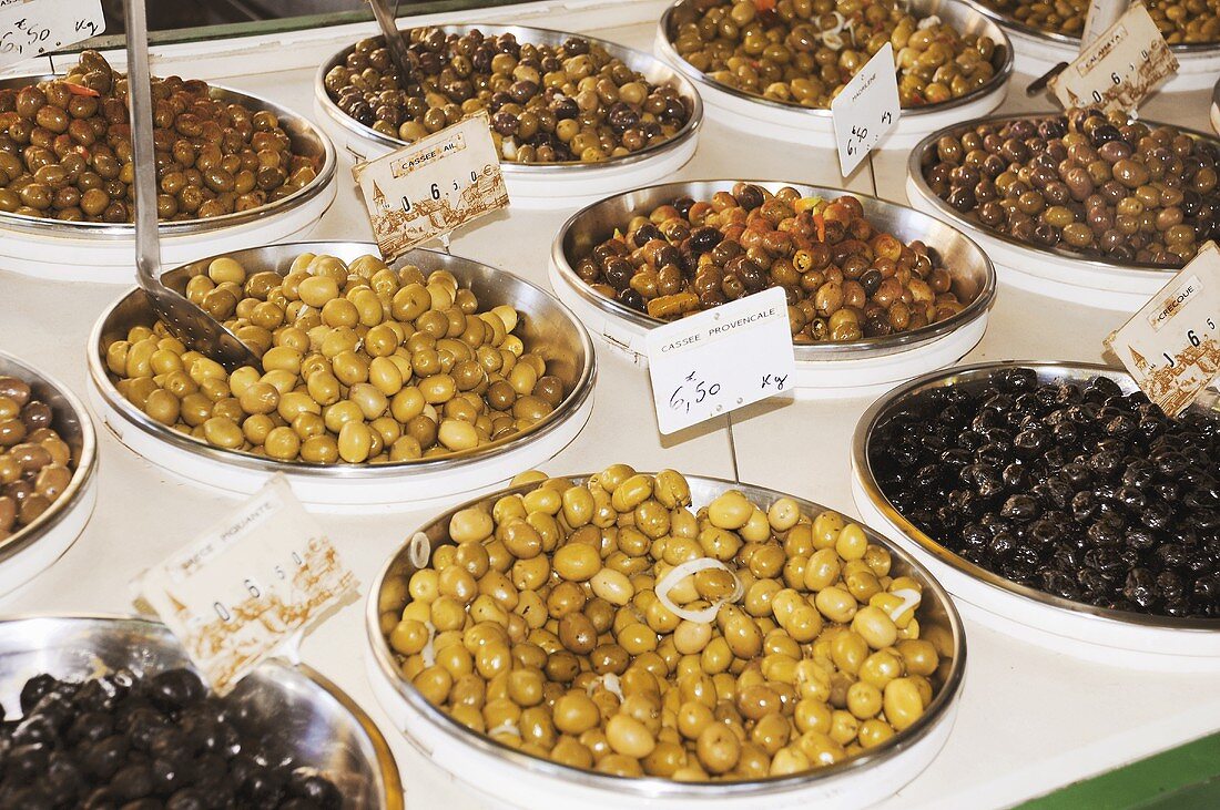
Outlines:
<svg viewBox="0 0 1220 810"><path fill-rule="evenodd" d="M1215 141L1097 110L941 136L924 179L967 219L1044 248L1181 267L1220 238Z"/></svg>

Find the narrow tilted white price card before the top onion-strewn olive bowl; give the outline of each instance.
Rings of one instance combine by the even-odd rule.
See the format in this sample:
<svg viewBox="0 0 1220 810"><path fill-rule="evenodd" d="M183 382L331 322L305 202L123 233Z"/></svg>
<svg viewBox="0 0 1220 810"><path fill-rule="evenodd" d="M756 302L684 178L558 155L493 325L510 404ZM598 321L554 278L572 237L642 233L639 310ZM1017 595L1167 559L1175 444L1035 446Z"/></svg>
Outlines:
<svg viewBox="0 0 1220 810"><path fill-rule="evenodd" d="M843 177L854 172L881 136L893 129L899 113L894 48L886 43L831 101Z"/></svg>

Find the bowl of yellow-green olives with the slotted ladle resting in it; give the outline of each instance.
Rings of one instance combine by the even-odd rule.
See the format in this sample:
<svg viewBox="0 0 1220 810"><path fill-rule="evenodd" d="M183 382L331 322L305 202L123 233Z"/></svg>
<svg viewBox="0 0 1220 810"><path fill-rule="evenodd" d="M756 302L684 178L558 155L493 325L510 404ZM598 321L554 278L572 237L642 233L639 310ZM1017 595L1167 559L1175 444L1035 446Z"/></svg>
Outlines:
<svg viewBox="0 0 1220 810"><path fill-rule="evenodd" d="M261 368L224 369L168 335L133 290L89 342L90 400L121 442L228 493L284 474L306 505L417 508L566 446L597 361L558 301L515 275L416 250L296 242L162 276Z"/></svg>

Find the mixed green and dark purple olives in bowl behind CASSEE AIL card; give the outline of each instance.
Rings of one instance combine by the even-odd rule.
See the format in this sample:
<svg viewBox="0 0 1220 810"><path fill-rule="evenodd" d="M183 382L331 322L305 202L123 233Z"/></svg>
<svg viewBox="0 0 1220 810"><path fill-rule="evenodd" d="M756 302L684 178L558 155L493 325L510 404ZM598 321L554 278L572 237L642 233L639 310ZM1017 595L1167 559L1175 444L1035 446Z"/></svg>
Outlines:
<svg viewBox="0 0 1220 810"><path fill-rule="evenodd" d="M356 43L325 79L343 112L409 144L486 110L501 160L595 163L661 144L691 119L676 88L581 37L551 46L415 28L409 38L405 82L381 38Z"/></svg>

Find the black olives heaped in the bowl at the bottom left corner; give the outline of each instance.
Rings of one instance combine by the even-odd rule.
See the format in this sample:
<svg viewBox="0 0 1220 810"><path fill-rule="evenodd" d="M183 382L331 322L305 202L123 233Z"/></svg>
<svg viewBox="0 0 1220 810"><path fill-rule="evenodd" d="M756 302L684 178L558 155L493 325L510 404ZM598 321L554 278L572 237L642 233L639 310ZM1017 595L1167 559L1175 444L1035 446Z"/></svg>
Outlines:
<svg viewBox="0 0 1220 810"><path fill-rule="evenodd" d="M0 722L0 806L338 810L284 731L207 694L189 670L60 681L37 675Z"/></svg>

